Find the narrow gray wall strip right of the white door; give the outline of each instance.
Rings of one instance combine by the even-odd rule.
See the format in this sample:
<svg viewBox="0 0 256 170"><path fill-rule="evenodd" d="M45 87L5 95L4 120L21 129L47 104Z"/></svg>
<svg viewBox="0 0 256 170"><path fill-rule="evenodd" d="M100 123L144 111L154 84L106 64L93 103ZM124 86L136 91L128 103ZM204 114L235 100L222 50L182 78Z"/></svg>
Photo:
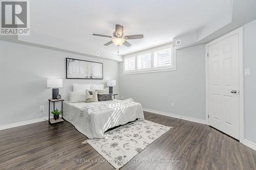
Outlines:
<svg viewBox="0 0 256 170"><path fill-rule="evenodd" d="M244 68L250 68L250 76L244 76L244 138L256 143L256 20L244 26Z"/></svg>

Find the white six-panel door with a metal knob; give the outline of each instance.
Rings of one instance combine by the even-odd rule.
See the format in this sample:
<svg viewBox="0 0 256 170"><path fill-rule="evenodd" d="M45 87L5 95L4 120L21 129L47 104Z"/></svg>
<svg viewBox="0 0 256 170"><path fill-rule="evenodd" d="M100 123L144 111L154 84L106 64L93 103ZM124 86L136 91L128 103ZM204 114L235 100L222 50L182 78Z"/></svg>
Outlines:
<svg viewBox="0 0 256 170"><path fill-rule="evenodd" d="M239 137L238 34L208 46L209 125Z"/></svg>

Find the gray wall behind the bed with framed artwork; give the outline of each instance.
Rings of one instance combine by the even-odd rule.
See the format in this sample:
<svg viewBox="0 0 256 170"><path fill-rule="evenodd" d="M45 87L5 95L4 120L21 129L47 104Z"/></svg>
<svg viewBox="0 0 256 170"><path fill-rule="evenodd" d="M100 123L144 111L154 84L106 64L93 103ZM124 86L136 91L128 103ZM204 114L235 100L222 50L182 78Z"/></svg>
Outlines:
<svg viewBox="0 0 256 170"><path fill-rule="evenodd" d="M66 79L66 57L103 62L104 80ZM51 89L46 88L47 78L63 79L59 90L64 99L73 83L105 84L115 79L114 92L119 92L118 62L6 41L0 41L0 77L0 126L48 115ZM40 113L40 105L44 105L45 114Z"/></svg>

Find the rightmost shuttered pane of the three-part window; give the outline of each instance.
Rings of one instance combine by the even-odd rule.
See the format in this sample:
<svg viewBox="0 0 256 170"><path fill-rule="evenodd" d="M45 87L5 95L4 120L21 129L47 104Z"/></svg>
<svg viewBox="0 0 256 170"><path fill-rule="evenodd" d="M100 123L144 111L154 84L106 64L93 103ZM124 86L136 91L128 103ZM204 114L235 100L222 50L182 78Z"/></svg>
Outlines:
<svg viewBox="0 0 256 170"><path fill-rule="evenodd" d="M154 67L172 66L172 49L154 53Z"/></svg>

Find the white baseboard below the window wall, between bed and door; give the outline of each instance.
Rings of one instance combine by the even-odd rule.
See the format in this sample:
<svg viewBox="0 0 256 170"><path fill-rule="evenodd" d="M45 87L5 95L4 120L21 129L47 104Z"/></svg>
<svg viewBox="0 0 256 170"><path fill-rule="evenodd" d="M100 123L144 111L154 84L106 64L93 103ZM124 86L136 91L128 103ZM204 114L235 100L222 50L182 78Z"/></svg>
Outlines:
<svg viewBox="0 0 256 170"><path fill-rule="evenodd" d="M205 120L198 119L198 118L187 117L187 116L182 116L182 115L172 114L172 113L166 113L166 112L161 112L161 111L152 110L152 109L146 109L146 108L143 108L143 111L151 112L151 113L156 113L156 114L161 114L161 115L164 115L164 116L180 118L180 119L183 119L183 120L188 120L190 122L196 122L196 123L199 123L199 124L206 124Z"/></svg>

